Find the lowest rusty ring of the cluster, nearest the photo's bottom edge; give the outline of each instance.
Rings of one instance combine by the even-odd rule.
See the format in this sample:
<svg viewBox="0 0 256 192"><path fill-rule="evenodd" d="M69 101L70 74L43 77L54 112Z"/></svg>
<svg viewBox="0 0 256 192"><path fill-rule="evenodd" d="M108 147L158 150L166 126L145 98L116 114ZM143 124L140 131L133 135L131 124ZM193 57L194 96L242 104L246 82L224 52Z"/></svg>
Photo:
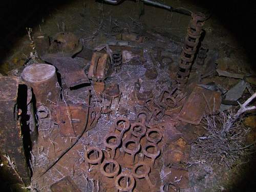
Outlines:
<svg viewBox="0 0 256 192"><path fill-rule="evenodd" d="M135 186L135 179L130 172L122 172L115 179L117 191L132 191Z"/></svg>

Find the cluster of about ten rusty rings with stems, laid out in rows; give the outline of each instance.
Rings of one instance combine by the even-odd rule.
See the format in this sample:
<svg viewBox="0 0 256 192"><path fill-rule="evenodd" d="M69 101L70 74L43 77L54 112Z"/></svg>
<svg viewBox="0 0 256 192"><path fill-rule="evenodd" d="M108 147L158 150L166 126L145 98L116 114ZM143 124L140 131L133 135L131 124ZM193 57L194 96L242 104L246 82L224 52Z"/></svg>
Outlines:
<svg viewBox="0 0 256 192"><path fill-rule="evenodd" d="M105 135L103 143L106 148L110 148L111 156L110 159L104 160L103 152L98 147L89 147L84 153L84 159L87 163L92 165L98 165L100 173L106 177L111 178L114 181L114 185L117 191L131 191L135 187L135 178L145 179L149 186L155 187L155 184L151 182L148 174L150 173L151 167L154 167L156 158L160 155L161 150L157 145L162 140L162 133L157 127L152 127L147 130L144 123L135 122L130 123L129 119L119 117L114 123L115 130L118 130L120 134L116 132L109 132ZM127 131L127 138L122 140L123 134ZM146 138L146 143L141 147L140 140L142 137ZM135 147L130 149L128 146L134 144ZM133 169L129 172L128 170L121 170L119 163L114 160L116 150L122 145L124 154L130 154L132 156L133 164L135 164L135 156L141 150L144 158L148 157L151 159L151 166L145 162L138 162L133 166ZM148 148L154 148L154 152L149 152ZM94 158L92 155L94 154ZM123 155L124 155L123 154ZM143 158L143 160L144 160ZM103 162L102 162L103 159ZM143 173L138 173L139 167L144 168Z"/></svg>

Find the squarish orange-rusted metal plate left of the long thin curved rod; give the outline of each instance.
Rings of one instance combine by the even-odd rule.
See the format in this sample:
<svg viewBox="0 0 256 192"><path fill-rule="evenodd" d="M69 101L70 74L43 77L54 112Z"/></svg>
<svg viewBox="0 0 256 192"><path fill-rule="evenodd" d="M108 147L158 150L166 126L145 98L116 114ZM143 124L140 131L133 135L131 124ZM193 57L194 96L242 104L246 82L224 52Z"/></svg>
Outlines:
<svg viewBox="0 0 256 192"><path fill-rule="evenodd" d="M61 136L79 135L86 125L87 106L59 103L55 105L55 113Z"/></svg>

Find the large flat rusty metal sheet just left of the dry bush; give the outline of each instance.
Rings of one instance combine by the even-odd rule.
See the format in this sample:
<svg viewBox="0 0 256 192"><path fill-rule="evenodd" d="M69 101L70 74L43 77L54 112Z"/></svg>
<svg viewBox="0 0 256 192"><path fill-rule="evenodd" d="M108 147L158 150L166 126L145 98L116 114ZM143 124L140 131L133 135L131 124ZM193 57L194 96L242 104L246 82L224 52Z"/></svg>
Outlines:
<svg viewBox="0 0 256 192"><path fill-rule="evenodd" d="M196 86L185 102L178 119L198 125L204 115L220 110L221 93Z"/></svg>

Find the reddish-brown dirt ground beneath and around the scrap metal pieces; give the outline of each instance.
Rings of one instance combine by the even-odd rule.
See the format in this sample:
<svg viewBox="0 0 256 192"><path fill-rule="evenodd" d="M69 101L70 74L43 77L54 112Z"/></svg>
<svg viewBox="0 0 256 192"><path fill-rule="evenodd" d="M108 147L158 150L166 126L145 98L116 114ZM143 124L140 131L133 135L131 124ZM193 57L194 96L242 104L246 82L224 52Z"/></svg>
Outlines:
<svg viewBox="0 0 256 192"><path fill-rule="evenodd" d="M192 12L205 12L209 15L208 9L187 1L172 1L172 6L184 7ZM164 91L171 92L176 88L176 71L189 21L190 16L153 6L143 6L142 3L133 1L124 1L117 6L95 1L74 1L57 7L49 15L41 18L38 26L33 27L32 34L40 32L53 37L59 32L71 32L80 39L83 50L99 49L107 42L119 39L120 30L142 36L144 40L143 42L131 40L130 46L128 46L130 48L126 47L122 50L123 53L126 51L127 54L122 54L121 69L112 70L109 77L104 80L105 88L118 84L120 93L118 97L114 99L104 98L104 95L108 94L105 92L99 94L96 90L98 87L95 86L93 80L90 80L92 83L90 86L78 89L70 90L67 85L65 86L65 83L64 86L61 86L62 104L66 103L66 106L64 105L61 108L63 110L62 116L58 114L57 103L57 105L52 104L46 108L47 117L38 119L38 139L33 143L31 152L32 190L51 191L53 190L51 186L54 183L69 176L80 191L115 191L113 189L116 186L114 181L118 176L114 176L114 178L103 176L99 164L92 165L86 160L91 157L91 154L84 157L90 147L97 147L103 153L103 159L115 159L119 163L120 173L127 171L131 173L134 164L138 162L145 162L146 165L150 165L149 179L145 179L147 176L137 178L134 191L159 191L161 186L167 186L168 183L172 183L169 185L172 187L167 190L165 188L164 191L233 191L233 186L236 186L236 183L239 182L239 174L237 173L243 173L242 170L246 170L247 165L241 165L243 162L236 162L234 164L239 164L239 166L233 167L234 164L232 164L232 168L230 168L223 163L218 165L207 162L207 158L203 158L204 155L196 154L198 151L194 151L194 146L198 144L198 138L207 135L207 131L204 129L205 125L202 122L199 125L192 125L178 120L178 114L181 110L179 107L185 103L186 96L193 92L196 84L215 82L223 89L229 90L241 81L237 78L220 77L217 74L212 74L198 82L198 77L209 67L206 63L212 65L211 60L217 54L218 58L213 61L218 63L217 69L229 73L254 73L245 54L245 49L215 15L209 17L203 26L205 30L203 44L208 46L209 51L204 66L196 65L196 63L193 65L186 88L187 95L183 97L178 93L176 105L168 106L164 110L165 114L160 118L157 114L146 122L143 115L138 115L140 111L146 110L145 101L148 99L158 101ZM115 47L110 46L110 49L114 51ZM108 51L108 48L103 46L101 52L105 53L106 51ZM162 60L158 59L159 51L161 51L161 56L164 57ZM33 52L31 40L26 35L20 39L17 46L13 48L12 54L3 62L1 73L7 74L8 71L23 66L25 62L33 61L31 52ZM130 53L131 55L129 55ZM39 59L35 60L41 62ZM86 57L76 56L74 60L88 75L91 65L90 54ZM148 69L153 69L153 71L146 75ZM154 75L156 77L152 77ZM245 80L250 84L252 92L255 92L255 78L247 77ZM136 88L136 86L139 86L139 88ZM91 102L88 100L89 93ZM249 96L249 91L245 90L239 101L243 102ZM63 100L63 98L65 99ZM91 115L91 117L88 117L90 118L89 122L95 124L89 123L86 126L86 132L83 132L83 127L76 126L76 123L70 121L73 130L75 130L75 135L63 136L60 133L61 125L58 117L67 116L72 104L83 105L84 109L88 109ZM162 109L158 106L154 106L155 108ZM84 113L86 114L86 112ZM96 120L92 117L92 114L96 114ZM98 119L97 115L100 115ZM113 150L106 147L104 140L105 136L110 133L120 134L115 130L115 126L119 126L115 124L116 119L120 117L128 119L131 128L123 133L122 143L117 147L116 155L113 156ZM68 119L70 120L69 117ZM136 123L142 123L143 126L140 124L139 129L145 126L147 132L150 132L155 128L159 131L157 133L161 135L161 139L157 143L160 155L156 158L154 165L152 165L152 158L143 154L142 150L139 150L135 155L134 163L131 163L131 155L125 154L123 151L125 139L130 137L139 142L142 148L150 143L146 136L138 140L138 137L134 138L131 135L132 127ZM126 124L127 122L120 125L122 129ZM246 136L247 140L244 141L244 146L246 146L246 144L255 140L255 123L243 123L243 126L246 129L251 127L252 130L248 134L249 136ZM138 132L141 132L141 130ZM81 135L81 138L77 140L79 135ZM248 139L248 137L250 138ZM153 138L156 139L157 135L154 135ZM114 139L112 144L116 142L117 140ZM67 152L69 148L70 150ZM132 146L130 150L134 150L134 148L135 146ZM175 154L177 151L182 154L182 160L179 159L181 157L177 157L179 153L177 153L178 155ZM63 152L65 153L63 154ZM99 154L93 152L95 157L91 158L97 159ZM154 154L156 151L150 151L150 153ZM174 162L174 164L170 162ZM177 162L179 162L178 165ZM49 167L51 168L48 170ZM124 177L123 180L125 179L127 178ZM122 182L120 185L124 185ZM127 183L130 184L131 181L129 180ZM152 183L155 188L152 187Z"/></svg>

